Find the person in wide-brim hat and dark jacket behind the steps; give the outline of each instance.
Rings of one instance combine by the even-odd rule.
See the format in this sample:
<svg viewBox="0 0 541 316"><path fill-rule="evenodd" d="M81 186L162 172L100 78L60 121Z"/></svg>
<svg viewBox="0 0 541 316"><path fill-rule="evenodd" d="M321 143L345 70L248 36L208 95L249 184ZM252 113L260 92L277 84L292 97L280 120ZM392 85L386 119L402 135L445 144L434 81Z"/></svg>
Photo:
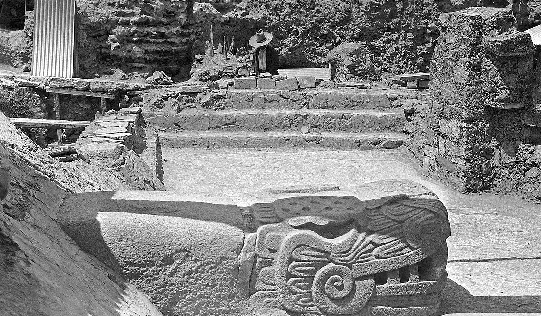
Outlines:
<svg viewBox="0 0 541 316"><path fill-rule="evenodd" d="M248 41L250 46L255 47L252 67L254 69L253 72L256 75L262 73L278 75L280 58L278 57L278 51L269 45L272 39L273 36L271 33L263 32L263 30L260 29Z"/></svg>

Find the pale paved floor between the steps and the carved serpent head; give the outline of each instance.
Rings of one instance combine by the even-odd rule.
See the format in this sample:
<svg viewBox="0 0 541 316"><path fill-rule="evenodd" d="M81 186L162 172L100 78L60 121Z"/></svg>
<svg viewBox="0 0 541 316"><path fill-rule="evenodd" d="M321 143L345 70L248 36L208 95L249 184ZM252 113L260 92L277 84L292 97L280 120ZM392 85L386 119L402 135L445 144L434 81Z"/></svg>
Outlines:
<svg viewBox="0 0 541 316"><path fill-rule="evenodd" d="M459 194L423 176L410 154L396 150L163 148L163 157L166 186L182 194L417 181L439 196L451 222L448 281L437 315L541 315L541 205Z"/></svg>

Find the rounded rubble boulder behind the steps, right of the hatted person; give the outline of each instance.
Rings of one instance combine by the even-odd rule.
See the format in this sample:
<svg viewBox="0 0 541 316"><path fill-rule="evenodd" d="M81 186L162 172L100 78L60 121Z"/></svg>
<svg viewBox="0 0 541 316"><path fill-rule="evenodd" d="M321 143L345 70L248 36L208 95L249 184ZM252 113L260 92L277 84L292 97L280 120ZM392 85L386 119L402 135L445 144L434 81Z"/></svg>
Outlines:
<svg viewBox="0 0 541 316"><path fill-rule="evenodd" d="M374 67L372 54L361 43L344 43L334 48L326 58L331 64L334 82L379 80L381 74Z"/></svg>

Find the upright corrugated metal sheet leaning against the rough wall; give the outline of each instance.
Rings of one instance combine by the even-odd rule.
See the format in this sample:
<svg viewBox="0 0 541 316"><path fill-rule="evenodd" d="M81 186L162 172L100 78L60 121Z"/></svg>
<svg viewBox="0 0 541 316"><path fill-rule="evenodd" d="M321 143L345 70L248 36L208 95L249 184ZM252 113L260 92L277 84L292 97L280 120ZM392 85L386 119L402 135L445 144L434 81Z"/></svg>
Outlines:
<svg viewBox="0 0 541 316"><path fill-rule="evenodd" d="M36 0L32 75L75 74L75 0Z"/></svg>

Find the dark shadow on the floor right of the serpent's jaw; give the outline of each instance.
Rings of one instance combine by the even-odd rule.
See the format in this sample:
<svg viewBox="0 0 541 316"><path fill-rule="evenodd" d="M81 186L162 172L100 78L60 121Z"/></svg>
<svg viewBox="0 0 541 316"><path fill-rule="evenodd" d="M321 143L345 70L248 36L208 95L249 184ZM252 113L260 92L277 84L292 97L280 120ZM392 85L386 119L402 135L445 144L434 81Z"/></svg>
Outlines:
<svg viewBox="0 0 541 316"><path fill-rule="evenodd" d="M473 296L452 279L447 279L439 311L448 313L541 313L541 295Z"/></svg>

